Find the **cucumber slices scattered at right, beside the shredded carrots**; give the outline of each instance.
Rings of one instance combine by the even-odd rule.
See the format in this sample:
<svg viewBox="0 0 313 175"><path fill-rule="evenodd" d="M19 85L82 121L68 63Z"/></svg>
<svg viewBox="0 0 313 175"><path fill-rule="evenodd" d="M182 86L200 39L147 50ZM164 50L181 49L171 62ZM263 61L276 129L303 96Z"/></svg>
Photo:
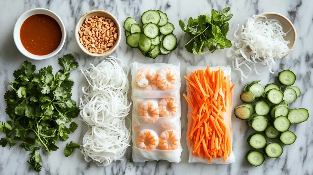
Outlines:
<svg viewBox="0 0 313 175"><path fill-rule="evenodd" d="M244 104L235 108L235 116L247 120L248 126L259 132L249 136L249 145L254 149L263 149L269 158L278 158L284 150L279 143L267 143L265 136L268 139L279 138L281 143L290 145L297 139L295 133L288 130L290 125L309 118L307 109L289 109L289 105L301 95L300 89L293 86L295 80L296 76L292 71L283 70L278 74L278 81L284 85L282 87L274 83L263 87L259 84L260 81L248 83L240 95ZM254 103L257 98L260 100ZM264 162L264 154L250 150L246 159L257 167Z"/></svg>

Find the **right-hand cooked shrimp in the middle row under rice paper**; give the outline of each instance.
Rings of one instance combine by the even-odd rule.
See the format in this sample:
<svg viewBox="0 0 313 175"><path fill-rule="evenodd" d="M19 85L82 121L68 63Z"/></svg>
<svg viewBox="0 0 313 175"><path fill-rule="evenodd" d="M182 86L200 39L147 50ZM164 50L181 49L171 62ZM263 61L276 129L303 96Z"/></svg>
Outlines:
<svg viewBox="0 0 313 175"><path fill-rule="evenodd" d="M167 106L170 110L167 110ZM178 104L172 98L164 98L159 101L159 110L162 117L173 116L178 111Z"/></svg>

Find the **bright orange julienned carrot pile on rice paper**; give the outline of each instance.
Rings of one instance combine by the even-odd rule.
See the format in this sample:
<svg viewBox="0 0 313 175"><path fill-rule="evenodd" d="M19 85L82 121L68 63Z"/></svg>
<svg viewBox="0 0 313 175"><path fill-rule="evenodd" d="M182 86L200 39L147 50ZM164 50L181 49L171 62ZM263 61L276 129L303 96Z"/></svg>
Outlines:
<svg viewBox="0 0 313 175"><path fill-rule="evenodd" d="M212 158L223 157L225 162L231 153L231 126L225 123L224 117L231 117L234 84L231 85L229 75L224 76L220 67L210 71L207 66L185 78L189 99L183 96L191 107L187 139L192 155L208 158L209 163Z"/></svg>

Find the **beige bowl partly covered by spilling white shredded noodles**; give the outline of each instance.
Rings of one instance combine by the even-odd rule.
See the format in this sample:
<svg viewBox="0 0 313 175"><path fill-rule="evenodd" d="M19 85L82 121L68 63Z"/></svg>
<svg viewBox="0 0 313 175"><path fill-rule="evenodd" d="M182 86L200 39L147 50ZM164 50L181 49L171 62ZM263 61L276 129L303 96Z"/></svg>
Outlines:
<svg viewBox="0 0 313 175"><path fill-rule="evenodd" d="M297 32L295 31L295 26L292 24L292 22L286 18L284 15L279 14L279 13L275 13L275 12L265 12L265 13L261 13L261 16L266 16L267 19L277 19L280 24L283 27L283 32L288 32L290 30L290 28L292 28L286 36L284 36L285 41L290 41L290 43L287 45L289 47L289 49L293 49L293 47L295 46L295 41L297 39ZM249 46L250 47L250 46ZM252 50L250 48L250 50ZM290 53L287 52L283 57L287 56ZM282 57L282 58L283 58Z"/></svg>

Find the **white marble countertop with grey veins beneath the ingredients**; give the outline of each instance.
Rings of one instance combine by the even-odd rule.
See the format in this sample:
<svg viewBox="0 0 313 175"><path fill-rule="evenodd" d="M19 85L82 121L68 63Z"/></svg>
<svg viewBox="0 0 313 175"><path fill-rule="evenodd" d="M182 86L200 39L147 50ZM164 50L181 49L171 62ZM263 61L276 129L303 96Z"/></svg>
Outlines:
<svg viewBox="0 0 313 175"><path fill-rule="evenodd" d="M103 58L97 59L83 53L74 39L74 26L76 21L85 12L95 9L102 9L111 12L117 17L120 24L123 24L126 17L131 16L139 22L141 14L149 9L159 9L167 13L169 22L175 26L174 34L178 38L178 47L169 55L158 56L156 59L143 57L138 49L131 49L125 43L125 36L122 36L121 44L113 53L113 56L122 58L124 62L131 65L134 61L141 63L171 63L180 62L182 88L181 93L186 91L186 81L183 78L187 66L209 65L224 66L231 65L226 58L227 49L208 53L203 56L195 56L184 48L186 38L184 32L179 28L178 20L187 21L189 17L198 17L200 14L210 13L211 9L220 11L223 7L230 6L233 18L229 22L230 30L228 38L233 38L233 32L237 24L242 24L252 14L262 12L278 12L285 15L293 22L297 30L297 42L294 50L285 58L277 61L274 66L275 75L265 73L262 76L251 75L248 80L240 81L238 72L232 70L231 76L234 89L234 106L241 104L239 100L240 90L243 85L252 80L262 80L261 84L266 85L274 82L277 72L283 69L290 69L297 75L295 85L301 89L301 97L291 107L303 107L313 114L313 1L311 0L172 0L172 1L148 1L148 0L1 0L0 1L0 121L8 120L5 113L6 103L3 99L5 91L11 89L7 83L13 81L13 70L18 69L25 60L31 61L41 67L52 65L54 72L60 68L57 58L64 54L71 53L79 68L71 73L74 79L73 99L78 101L82 95L81 87L85 84L85 78L80 69L86 68L89 63L98 64ZM44 61L33 61L23 56L16 48L13 41L13 28L18 17L25 11L36 8L48 8L59 15L66 28L66 41L63 49L53 58ZM313 174L313 119L291 125L290 130L297 135L297 140L290 146L284 146L284 153L277 159L265 158L260 167L253 167L245 160L244 155L250 149L247 137L253 131L248 129L244 121L232 117L233 124L233 153L236 162L228 165L208 165L203 163L188 163L188 151L186 145L187 130L187 103L182 98L182 161L180 163L169 163L167 161L149 161L145 163L133 163L131 160L131 148L128 148L125 161L113 162L107 167L98 167L95 163L87 163L79 150L66 158L63 155L63 148L66 143L58 142L59 150L48 156L40 151L43 163L42 171L39 174ZM87 126L80 120L75 119L79 124L78 130L70 134L68 141L82 143L83 135ZM4 137L0 134L0 138ZM37 174L26 163L29 152L23 148L14 146L0 148L0 174Z"/></svg>

